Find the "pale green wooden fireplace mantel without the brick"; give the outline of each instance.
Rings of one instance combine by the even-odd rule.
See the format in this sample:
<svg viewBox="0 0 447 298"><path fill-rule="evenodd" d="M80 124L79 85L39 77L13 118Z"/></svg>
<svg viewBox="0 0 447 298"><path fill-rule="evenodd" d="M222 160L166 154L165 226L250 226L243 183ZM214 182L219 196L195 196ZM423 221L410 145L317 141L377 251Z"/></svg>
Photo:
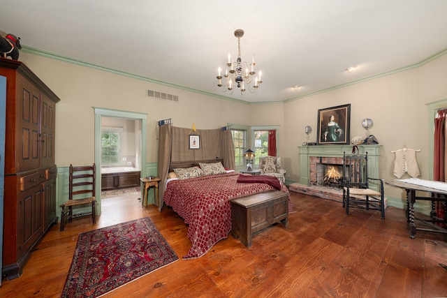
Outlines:
<svg viewBox="0 0 447 298"><path fill-rule="evenodd" d="M369 177L379 177L379 155L380 144L358 145L358 153L368 153L368 175ZM316 145L302 146L300 148L300 184L310 184L309 158L316 157L341 157L343 152L352 154L352 145ZM357 153L357 152L356 152Z"/></svg>

